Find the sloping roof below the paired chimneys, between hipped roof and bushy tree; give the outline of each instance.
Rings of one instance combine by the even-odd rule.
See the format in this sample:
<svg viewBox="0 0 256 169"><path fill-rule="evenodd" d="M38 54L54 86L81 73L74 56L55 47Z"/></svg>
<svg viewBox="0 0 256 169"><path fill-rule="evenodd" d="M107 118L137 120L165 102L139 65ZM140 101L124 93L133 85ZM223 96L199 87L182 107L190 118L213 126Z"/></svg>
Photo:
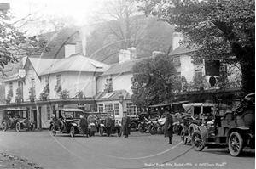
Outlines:
<svg viewBox="0 0 256 169"><path fill-rule="evenodd" d="M142 59L135 59L135 60L131 60L131 61L126 61L126 62L121 63L121 64L119 64L119 63L113 64L101 76L108 76L108 75L132 72L133 65L135 65L137 62L140 62L140 61L142 61Z"/></svg>

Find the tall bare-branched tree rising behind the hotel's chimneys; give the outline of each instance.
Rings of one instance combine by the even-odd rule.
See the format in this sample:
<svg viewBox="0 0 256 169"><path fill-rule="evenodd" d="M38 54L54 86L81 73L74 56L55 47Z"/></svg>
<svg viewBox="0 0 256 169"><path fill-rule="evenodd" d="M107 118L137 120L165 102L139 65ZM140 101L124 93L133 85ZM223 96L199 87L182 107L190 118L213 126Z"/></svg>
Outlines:
<svg viewBox="0 0 256 169"><path fill-rule="evenodd" d="M156 17L146 18L137 12L135 3L127 0L106 1L98 14L95 20L101 24L94 25L95 31L88 38L86 48L92 59L113 64L118 62L120 49L135 47L137 56L143 58L153 51L167 53L172 45L173 26L157 22ZM99 48L101 51L95 54Z"/></svg>

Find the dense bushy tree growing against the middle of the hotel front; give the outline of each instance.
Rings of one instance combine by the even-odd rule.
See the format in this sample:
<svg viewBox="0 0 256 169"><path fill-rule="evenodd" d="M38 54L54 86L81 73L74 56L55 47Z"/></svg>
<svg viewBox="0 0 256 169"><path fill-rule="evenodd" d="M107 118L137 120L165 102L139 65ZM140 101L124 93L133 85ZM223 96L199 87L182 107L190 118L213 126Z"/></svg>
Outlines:
<svg viewBox="0 0 256 169"><path fill-rule="evenodd" d="M133 66L132 71L131 101L138 108L145 108L150 104L164 104L174 99L176 70L172 59L166 54L143 59Z"/></svg>

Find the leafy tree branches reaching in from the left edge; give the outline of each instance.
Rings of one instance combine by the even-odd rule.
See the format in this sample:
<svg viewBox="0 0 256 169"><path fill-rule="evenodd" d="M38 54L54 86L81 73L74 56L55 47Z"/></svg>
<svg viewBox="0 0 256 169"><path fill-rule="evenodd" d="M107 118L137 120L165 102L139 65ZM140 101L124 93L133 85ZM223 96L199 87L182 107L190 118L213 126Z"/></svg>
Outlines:
<svg viewBox="0 0 256 169"><path fill-rule="evenodd" d="M8 10L0 11L0 70L3 74L2 69L9 62L16 63L24 56L50 50L43 36L30 37L26 35L26 31L17 28L17 24L26 17L15 22L12 22L12 18Z"/></svg>

